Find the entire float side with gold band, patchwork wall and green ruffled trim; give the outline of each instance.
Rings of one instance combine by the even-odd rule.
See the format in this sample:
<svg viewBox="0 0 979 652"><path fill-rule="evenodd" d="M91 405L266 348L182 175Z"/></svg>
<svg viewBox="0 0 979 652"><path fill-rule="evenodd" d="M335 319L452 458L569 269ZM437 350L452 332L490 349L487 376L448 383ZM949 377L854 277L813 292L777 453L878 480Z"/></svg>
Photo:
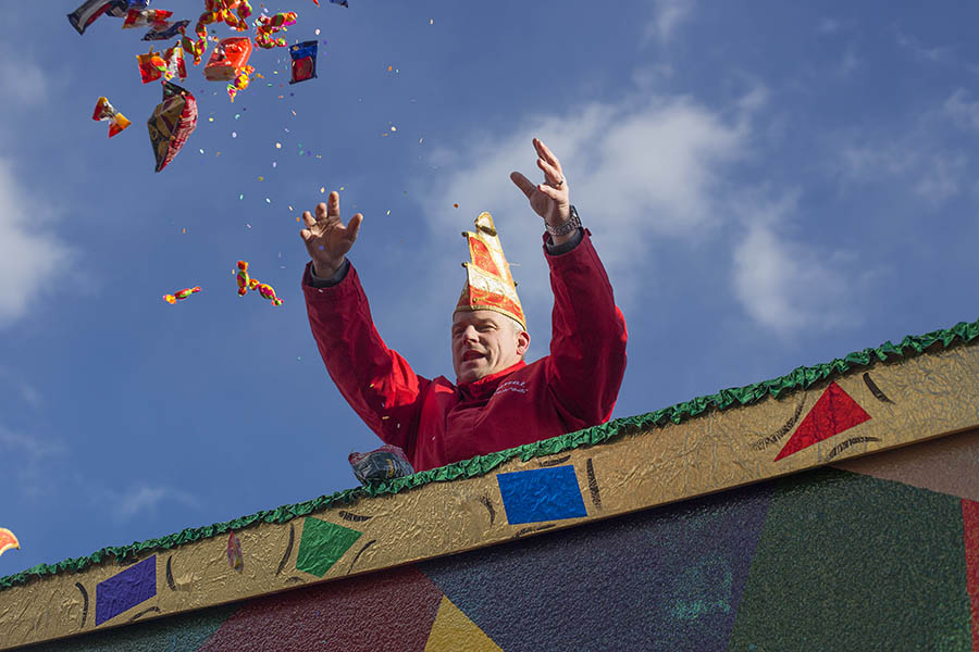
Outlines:
<svg viewBox="0 0 979 652"><path fill-rule="evenodd" d="M974 649L965 327L0 578L0 649Z"/></svg>

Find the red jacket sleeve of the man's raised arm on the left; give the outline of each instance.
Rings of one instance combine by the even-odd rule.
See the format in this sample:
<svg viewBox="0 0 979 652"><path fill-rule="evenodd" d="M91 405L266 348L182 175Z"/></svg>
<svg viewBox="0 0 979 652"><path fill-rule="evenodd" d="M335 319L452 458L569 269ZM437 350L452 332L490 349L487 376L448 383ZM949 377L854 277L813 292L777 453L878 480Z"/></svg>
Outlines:
<svg viewBox="0 0 979 652"><path fill-rule="evenodd" d="M313 287L310 266L302 275L306 311L330 377L377 437L413 459L421 398L430 380L381 339L352 265L343 280L321 288Z"/></svg>

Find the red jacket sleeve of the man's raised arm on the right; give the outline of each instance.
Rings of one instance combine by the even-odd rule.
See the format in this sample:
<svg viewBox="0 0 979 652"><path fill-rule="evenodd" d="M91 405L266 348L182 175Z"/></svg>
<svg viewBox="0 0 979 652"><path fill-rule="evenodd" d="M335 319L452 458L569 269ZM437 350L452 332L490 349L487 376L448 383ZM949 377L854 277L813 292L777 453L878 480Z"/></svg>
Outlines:
<svg viewBox="0 0 979 652"><path fill-rule="evenodd" d="M625 319L591 235L584 229L571 251L545 247L544 254L554 290L547 381L571 430L609 419L625 373Z"/></svg>

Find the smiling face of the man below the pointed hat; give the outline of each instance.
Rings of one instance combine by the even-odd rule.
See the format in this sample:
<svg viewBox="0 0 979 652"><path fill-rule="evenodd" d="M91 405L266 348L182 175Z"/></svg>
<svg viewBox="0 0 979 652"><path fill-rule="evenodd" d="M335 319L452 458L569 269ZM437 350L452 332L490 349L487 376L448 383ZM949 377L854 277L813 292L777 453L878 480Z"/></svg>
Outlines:
<svg viewBox="0 0 979 652"><path fill-rule="evenodd" d="M472 383L517 364L530 346L530 335L516 322L492 310L453 315L453 366L459 383Z"/></svg>

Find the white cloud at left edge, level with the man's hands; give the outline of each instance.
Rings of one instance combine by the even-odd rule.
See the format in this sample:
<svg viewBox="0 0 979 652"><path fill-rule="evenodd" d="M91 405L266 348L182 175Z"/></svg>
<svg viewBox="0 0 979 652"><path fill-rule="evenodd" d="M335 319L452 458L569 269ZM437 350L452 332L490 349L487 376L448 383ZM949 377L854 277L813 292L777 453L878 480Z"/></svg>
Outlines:
<svg viewBox="0 0 979 652"><path fill-rule="evenodd" d="M64 272L69 247L55 235L49 209L28 197L9 160L0 158L0 278L15 292L0 292L0 328L23 317L29 304Z"/></svg>

